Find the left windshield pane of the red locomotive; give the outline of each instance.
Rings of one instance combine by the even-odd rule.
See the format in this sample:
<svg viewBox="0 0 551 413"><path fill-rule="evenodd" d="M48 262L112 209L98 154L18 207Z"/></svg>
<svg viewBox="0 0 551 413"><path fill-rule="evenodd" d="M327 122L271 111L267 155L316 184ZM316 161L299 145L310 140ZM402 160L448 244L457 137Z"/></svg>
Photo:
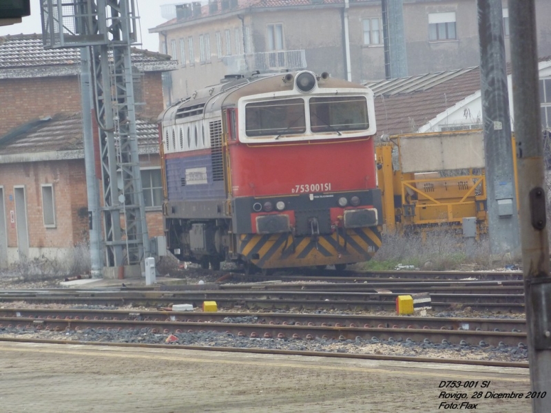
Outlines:
<svg viewBox="0 0 551 413"><path fill-rule="evenodd" d="M245 105L247 136L303 134L306 131L304 100L282 99Z"/></svg>

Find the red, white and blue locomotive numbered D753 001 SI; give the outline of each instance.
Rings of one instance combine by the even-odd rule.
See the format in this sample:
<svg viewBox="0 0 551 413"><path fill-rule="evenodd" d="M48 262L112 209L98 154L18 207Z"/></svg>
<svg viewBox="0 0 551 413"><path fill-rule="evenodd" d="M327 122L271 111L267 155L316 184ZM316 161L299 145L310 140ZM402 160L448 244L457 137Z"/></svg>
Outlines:
<svg viewBox="0 0 551 413"><path fill-rule="evenodd" d="M340 269L380 247L370 89L308 71L227 76L159 121L179 260Z"/></svg>

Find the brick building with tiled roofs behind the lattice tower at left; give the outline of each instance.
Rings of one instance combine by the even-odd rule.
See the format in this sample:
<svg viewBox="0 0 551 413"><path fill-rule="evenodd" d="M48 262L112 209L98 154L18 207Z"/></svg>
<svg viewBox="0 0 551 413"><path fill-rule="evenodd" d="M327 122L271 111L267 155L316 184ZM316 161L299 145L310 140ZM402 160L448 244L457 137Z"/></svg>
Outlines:
<svg viewBox="0 0 551 413"><path fill-rule="evenodd" d="M149 234L162 235L156 118L174 61L133 50L138 147ZM87 240L79 50L40 35L0 37L0 268L62 258Z"/></svg>

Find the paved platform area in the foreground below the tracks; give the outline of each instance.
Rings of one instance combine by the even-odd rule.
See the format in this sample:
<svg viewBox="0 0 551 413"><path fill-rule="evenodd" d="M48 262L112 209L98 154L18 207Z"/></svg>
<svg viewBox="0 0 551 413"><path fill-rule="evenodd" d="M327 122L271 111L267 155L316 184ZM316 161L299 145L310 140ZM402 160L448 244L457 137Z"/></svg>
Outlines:
<svg viewBox="0 0 551 413"><path fill-rule="evenodd" d="M6 413L524 413L495 395L529 387L526 368L0 341Z"/></svg>

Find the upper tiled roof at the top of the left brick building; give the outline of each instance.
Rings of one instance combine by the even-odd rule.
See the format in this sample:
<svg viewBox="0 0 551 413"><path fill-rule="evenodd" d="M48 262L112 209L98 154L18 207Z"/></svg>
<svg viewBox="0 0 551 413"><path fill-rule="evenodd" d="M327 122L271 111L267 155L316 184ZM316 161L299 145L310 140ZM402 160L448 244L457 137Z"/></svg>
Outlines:
<svg viewBox="0 0 551 413"><path fill-rule="evenodd" d="M170 63L170 56L132 48L132 64L136 67L151 67L156 63L164 67ZM80 64L81 52L78 47L44 49L41 34L0 36L0 71L32 70L37 67L80 67Z"/></svg>

